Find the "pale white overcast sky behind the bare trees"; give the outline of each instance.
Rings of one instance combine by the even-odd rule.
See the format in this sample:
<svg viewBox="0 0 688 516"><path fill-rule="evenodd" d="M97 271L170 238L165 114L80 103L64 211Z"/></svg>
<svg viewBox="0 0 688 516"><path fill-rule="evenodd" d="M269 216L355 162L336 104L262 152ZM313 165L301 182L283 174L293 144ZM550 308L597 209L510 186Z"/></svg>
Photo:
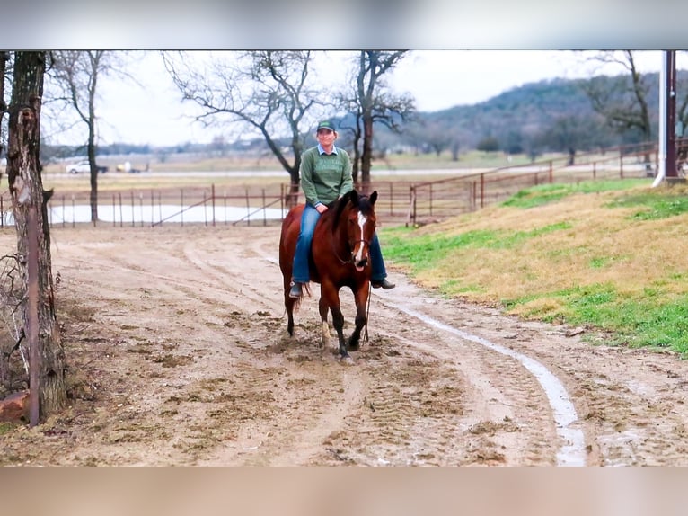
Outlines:
<svg viewBox="0 0 688 516"><path fill-rule="evenodd" d="M188 117L194 107L181 103L180 93L172 85L159 54L147 54L132 70L141 86L121 79L101 80L97 107L101 144L168 146L212 140L217 129L206 130L191 123ZM657 50L639 52L641 71L659 71L663 55ZM680 68L684 67L683 59L680 55ZM341 72L340 67L331 69L327 73ZM613 74L622 69L603 71ZM570 50L417 50L401 61L390 85L398 93L411 93L419 111L438 111L483 102L542 79L592 75L589 61Z"/></svg>

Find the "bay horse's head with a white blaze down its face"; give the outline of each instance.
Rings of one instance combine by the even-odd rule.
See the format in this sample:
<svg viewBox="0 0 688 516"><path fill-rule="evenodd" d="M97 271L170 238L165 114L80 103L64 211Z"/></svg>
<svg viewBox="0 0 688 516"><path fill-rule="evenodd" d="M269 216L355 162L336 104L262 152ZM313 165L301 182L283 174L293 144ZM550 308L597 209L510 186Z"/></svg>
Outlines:
<svg viewBox="0 0 688 516"><path fill-rule="evenodd" d="M350 262L359 272L370 263L370 242L375 235L375 200L377 191L366 196L352 190L342 197L339 205L340 223L346 224Z"/></svg>

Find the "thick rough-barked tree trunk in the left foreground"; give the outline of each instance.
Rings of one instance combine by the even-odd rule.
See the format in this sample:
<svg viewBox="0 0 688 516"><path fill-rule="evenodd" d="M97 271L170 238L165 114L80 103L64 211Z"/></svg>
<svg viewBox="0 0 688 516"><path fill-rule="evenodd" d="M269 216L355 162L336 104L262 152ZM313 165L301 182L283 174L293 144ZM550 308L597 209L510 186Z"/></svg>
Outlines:
<svg viewBox="0 0 688 516"><path fill-rule="evenodd" d="M22 278L27 280L28 221L31 207L38 226L38 341L40 353L40 413L45 416L66 405L65 352L55 316L46 193L40 176L40 103L45 52L17 52L9 108L7 170L17 230ZM49 195L48 195L49 197ZM28 289L27 289L28 290ZM27 332L26 300L23 321ZM33 366L33 364L31 364Z"/></svg>

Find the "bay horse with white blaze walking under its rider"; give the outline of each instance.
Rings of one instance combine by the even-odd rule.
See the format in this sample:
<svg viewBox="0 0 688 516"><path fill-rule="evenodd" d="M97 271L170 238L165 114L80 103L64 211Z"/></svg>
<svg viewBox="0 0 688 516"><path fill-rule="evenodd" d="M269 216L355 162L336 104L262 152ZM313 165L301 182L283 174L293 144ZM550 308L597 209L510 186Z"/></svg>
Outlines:
<svg viewBox="0 0 688 516"><path fill-rule="evenodd" d="M340 358L350 360L348 350L357 350L361 329L366 325L366 304L370 295L370 242L375 235L375 200L377 191L370 196L356 190L345 193L328 206L313 232L309 257L311 281L320 283L318 308L321 316L322 343L327 345L330 327L327 323L328 310L332 314L332 325L340 342ZM282 222L279 237L279 268L284 279L285 307L287 308L287 332L294 336L294 309L301 298L290 298L292 267L301 227L304 204L290 209ZM348 287L356 302L356 325L353 333L344 340L344 316L340 308L340 289ZM310 293L308 285L304 292Z"/></svg>

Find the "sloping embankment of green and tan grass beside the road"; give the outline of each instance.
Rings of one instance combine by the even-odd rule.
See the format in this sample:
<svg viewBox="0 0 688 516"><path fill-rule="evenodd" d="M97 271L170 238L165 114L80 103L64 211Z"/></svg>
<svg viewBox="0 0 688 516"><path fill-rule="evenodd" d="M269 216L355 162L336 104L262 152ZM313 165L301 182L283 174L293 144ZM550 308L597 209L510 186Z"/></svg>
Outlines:
<svg viewBox="0 0 688 516"><path fill-rule="evenodd" d="M647 180L541 185L417 229L384 254L423 286L509 314L688 353L688 188Z"/></svg>

